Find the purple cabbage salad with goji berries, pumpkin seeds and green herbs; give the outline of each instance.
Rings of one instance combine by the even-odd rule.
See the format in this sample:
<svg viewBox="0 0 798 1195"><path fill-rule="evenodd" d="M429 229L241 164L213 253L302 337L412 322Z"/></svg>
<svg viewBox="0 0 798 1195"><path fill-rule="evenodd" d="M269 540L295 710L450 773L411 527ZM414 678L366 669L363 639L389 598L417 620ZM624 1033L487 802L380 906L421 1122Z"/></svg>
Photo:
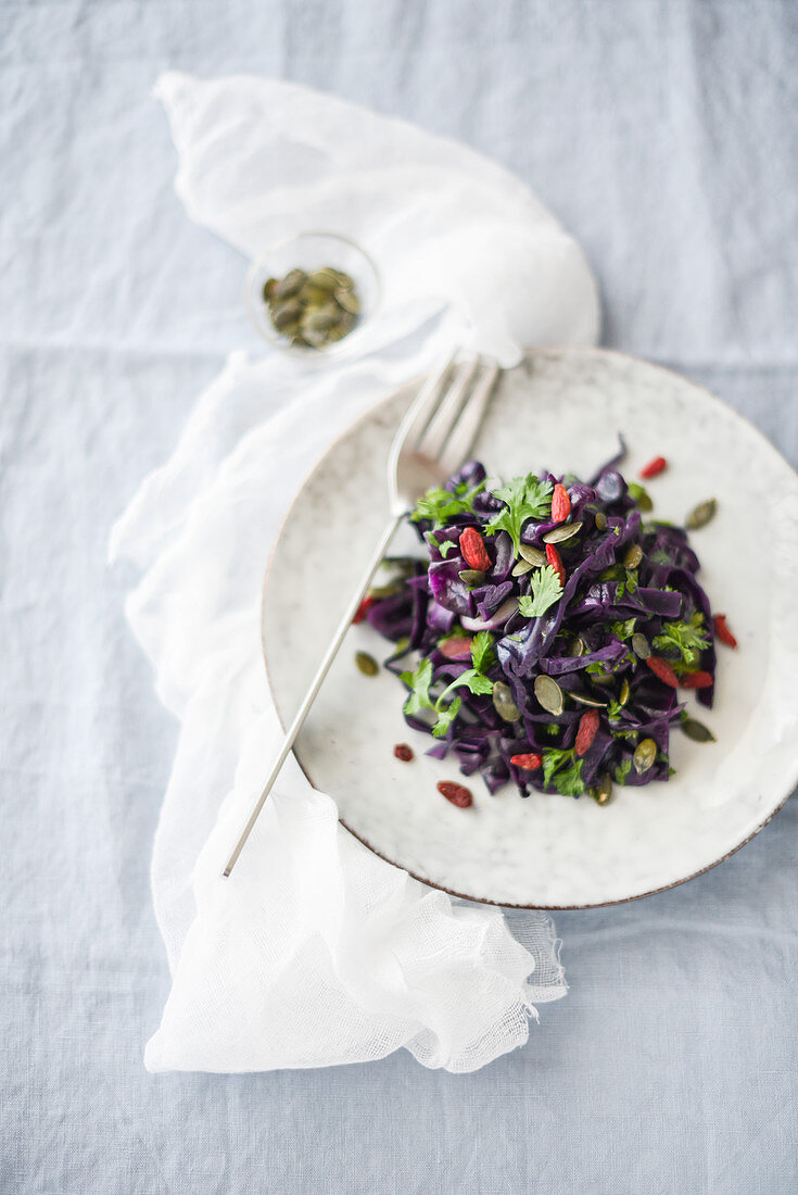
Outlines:
<svg viewBox="0 0 798 1195"><path fill-rule="evenodd" d="M713 623L687 532L651 519L619 459L589 483L498 484L469 461L409 515L429 558L386 560L388 581L367 599L395 645L386 667L407 724L490 792L512 780L523 797L604 804L614 784L668 780L673 728L714 741L680 690L712 705L723 615Z"/></svg>

